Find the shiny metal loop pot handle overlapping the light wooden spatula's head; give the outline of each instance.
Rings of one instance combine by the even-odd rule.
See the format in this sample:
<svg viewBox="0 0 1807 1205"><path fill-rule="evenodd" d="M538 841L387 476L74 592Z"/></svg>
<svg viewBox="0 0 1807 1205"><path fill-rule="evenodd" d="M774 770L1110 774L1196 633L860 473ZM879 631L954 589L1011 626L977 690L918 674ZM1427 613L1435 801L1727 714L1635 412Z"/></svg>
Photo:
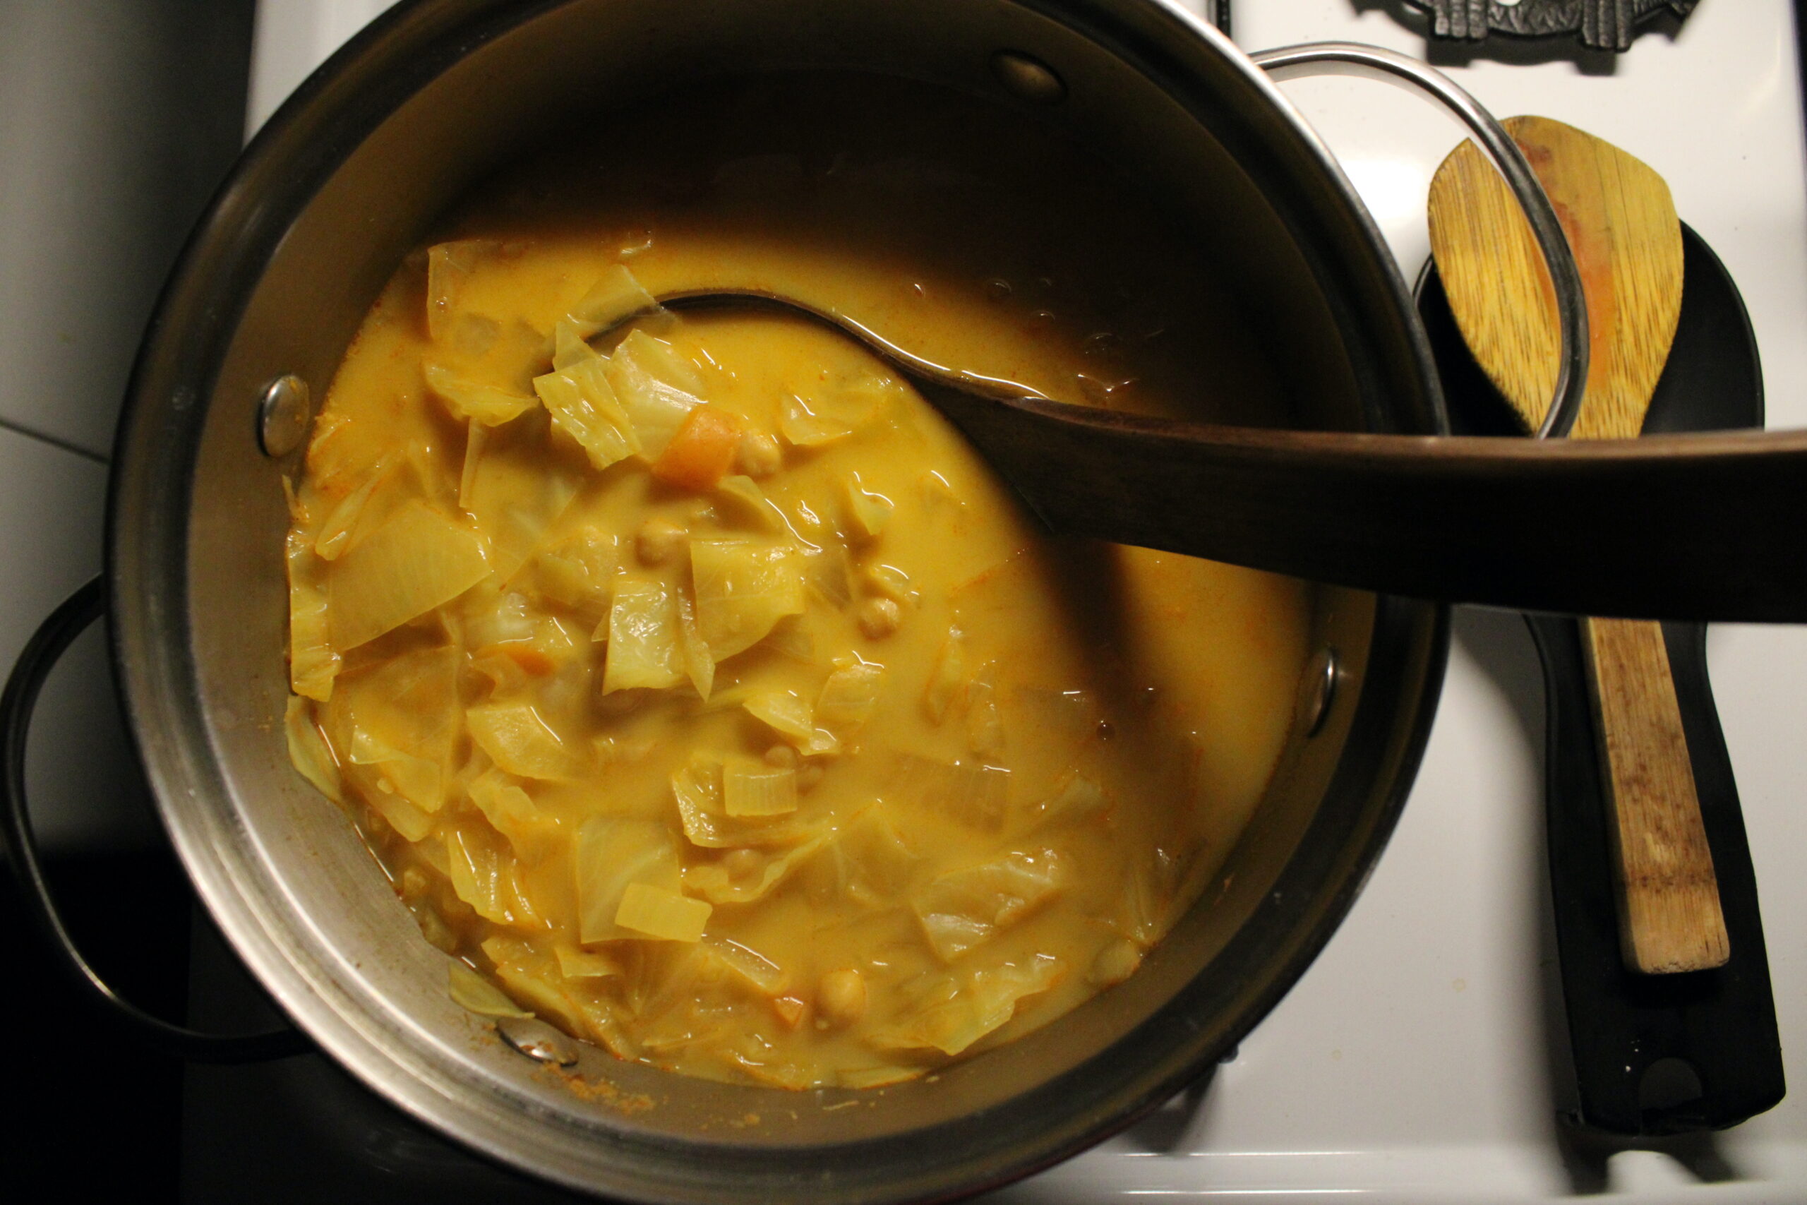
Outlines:
<svg viewBox="0 0 1807 1205"><path fill-rule="evenodd" d="M1276 81L1305 76L1381 79L1437 101L1475 132L1480 148L1518 197L1520 208L1531 220L1531 233L1543 251L1543 262L1550 269L1563 354L1556 372L1556 397L1536 435L1538 439L1567 435L1581 414L1581 396L1587 392L1587 296L1581 293L1581 269L1576 267L1568 238L1556 220L1556 208L1512 135L1455 79L1397 51L1359 42L1306 42L1261 51L1249 58Z"/></svg>

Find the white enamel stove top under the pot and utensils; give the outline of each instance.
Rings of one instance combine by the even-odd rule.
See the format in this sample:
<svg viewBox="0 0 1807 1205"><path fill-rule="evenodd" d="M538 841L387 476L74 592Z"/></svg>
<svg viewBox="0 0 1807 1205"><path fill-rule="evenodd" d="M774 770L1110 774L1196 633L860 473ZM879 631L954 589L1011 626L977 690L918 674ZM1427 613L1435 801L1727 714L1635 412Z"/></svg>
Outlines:
<svg viewBox="0 0 1807 1205"><path fill-rule="evenodd" d="M251 128L383 7L262 0ZM1234 33L1245 49L1350 40L1426 56L1395 13L1406 13L1397 0L1238 0ZM1429 52L1496 114L1568 121L1657 168L1744 293L1769 426L1807 426L1807 143L1787 0L1708 0L1673 38L1646 34L1619 58L1523 43L1493 49L1498 60ZM1287 94L1343 159L1409 280L1428 257L1429 177L1458 128L1373 83L1299 81ZM0 426L7 419L31 426L31 416L0 414ZM72 497L101 479L99 466L9 432L0 473L67 482ZM49 531L18 493L0 491L7 547L74 542L76 560L83 540L98 549L98 493L72 520L76 537ZM85 564L7 593L0 659ZM1559 1133L1556 1111L1572 1089L1552 1071L1567 1033L1543 862L1541 677L1516 616L1460 609L1404 820L1315 965L1202 1091L992 1200L1807 1200L1807 627L1718 627L1709 658L1796 1086L1776 1109L1724 1135L1635 1151ZM74 761L74 744L61 746L56 761Z"/></svg>

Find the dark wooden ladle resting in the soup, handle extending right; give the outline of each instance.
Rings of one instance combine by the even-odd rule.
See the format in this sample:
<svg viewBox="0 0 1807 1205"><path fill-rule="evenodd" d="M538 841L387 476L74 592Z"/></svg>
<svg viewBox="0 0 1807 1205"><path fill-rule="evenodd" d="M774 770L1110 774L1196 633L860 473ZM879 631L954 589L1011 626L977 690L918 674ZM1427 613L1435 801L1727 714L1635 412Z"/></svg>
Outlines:
<svg viewBox="0 0 1807 1205"><path fill-rule="evenodd" d="M1184 423L1023 397L791 298L661 302L777 307L866 343L1053 531L1518 611L1807 621L1807 432L1534 443Z"/></svg>

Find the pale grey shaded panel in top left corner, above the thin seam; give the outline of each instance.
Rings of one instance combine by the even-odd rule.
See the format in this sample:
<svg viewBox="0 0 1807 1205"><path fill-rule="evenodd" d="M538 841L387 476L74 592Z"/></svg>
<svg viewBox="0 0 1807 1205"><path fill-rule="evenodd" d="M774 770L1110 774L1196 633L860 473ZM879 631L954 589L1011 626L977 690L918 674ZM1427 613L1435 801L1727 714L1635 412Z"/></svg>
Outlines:
<svg viewBox="0 0 1807 1205"><path fill-rule="evenodd" d="M224 5L0 5L0 425L105 453L163 276L217 182ZM228 85L229 87L229 85Z"/></svg>

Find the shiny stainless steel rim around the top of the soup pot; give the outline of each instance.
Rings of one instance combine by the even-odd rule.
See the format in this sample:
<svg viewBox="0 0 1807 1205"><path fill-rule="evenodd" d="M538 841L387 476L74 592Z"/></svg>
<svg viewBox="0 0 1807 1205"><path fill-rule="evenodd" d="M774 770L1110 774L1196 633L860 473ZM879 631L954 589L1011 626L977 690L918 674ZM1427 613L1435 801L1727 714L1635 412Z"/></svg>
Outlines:
<svg viewBox="0 0 1807 1205"><path fill-rule="evenodd" d="M520 1149L510 1145L510 1133L486 1126L493 1118L473 1113L455 1098L452 1084L421 1050L398 1044L394 1035L358 1014L356 1001L334 994L291 932L291 921L260 891L257 874L264 853L253 833L219 809L179 806L195 797L226 793L219 766L210 757L208 719L197 697L184 587L190 555L186 500L199 421L262 267L318 188L401 103L470 49L564 2L405 0L332 54L251 139L190 235L134 363L108 484L107 576L114 668L159 818L197 894L253 976L323 1051L390 1104L506 1165L575 1189L620 1192L620 1183L578 1176L562 1165L529 1163ZM1066 25L1119 56L1120 45L1140 51L1126 61L1142 74L1151 74L1147 61L1167 63L1156 79L1184 74L1184 60L1198 54L1214 54L1236 70L1278 114L1278 128L1294 143L1292 150L1310 159L1321 181L1341 193L1344 213L1361 238L1357 251L1381 266L1386 287L1397 298L1408 354L1415 358L1424 383L1426 396L1418 399L1424 414L1408 414L1408 425L1442 428L1429 345L1397 262L1328 148L1259 67L1173 0L1008 4ZM1400 405L1409 406L1409 401ZM1381 423L1397 417L1370 416ZM179 515L183 522L168 520L170 515ZM164 522L159 524L159 517ZM1386 748L1375 753L1384 762L1375 770L1384 789L1364 806L1366 827L1359 831L1359 842L1343 849L1337 867L1332 867L1334 887L1319 887L1315 896L1294 905L1287 956L1272 967L1259 990L1245 997L1240 1012L1212 1033L1198 1037L1182 1057L1169 1059L1164 1070L1137 1080L1109 1111L1055 1126L1039 1142L983 1169L911 1182L913 1198L923 1196L923 1191L934 1200L967 1196L1077 1154L1209 1071L1267 1015L1330 939L1399 818L1429 737L1447 629L1447 605L1377 598L1372 647L1399 650L1400 665L1384 668L1397 679L1391 690L1400 699L1393 706L1408 712L1400 717L1390 710L1381 726L1384 732L1377 728L1388 739ZM1364 683L1364 703L1381 690L1372 679L1373 672ZM528 1118L522 1124L529 1124ZM860 1200L902 1198L875 1194Z"/></svg>

